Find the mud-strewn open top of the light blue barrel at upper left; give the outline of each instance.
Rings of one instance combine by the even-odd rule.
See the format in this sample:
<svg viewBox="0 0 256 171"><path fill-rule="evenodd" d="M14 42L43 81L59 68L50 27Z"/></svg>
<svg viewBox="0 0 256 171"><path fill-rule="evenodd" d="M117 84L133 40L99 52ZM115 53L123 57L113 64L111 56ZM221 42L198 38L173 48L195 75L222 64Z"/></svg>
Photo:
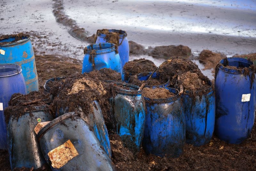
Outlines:
<svg viewBox="0 0 256 171"><path fill-rule="evenodd" d="M30 39L30 35L19 33L19 34L9 34L0 36L0 46L10 46L25 42Z"/></svg>

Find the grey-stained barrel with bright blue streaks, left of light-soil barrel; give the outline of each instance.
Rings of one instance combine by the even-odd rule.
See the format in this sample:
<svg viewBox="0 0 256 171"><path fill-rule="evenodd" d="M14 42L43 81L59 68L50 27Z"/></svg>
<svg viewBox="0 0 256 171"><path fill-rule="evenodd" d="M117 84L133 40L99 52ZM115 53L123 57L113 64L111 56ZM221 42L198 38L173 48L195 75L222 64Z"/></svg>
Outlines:
<svg viewBox="0 0 256 171"><path fill-rule="evenodd" d="M134 154L140 151L145 127L145 102L139 87L114 83L116 96L110 99L115 120L115 131ZM123 88L122 88L123 87Z"/></svg>

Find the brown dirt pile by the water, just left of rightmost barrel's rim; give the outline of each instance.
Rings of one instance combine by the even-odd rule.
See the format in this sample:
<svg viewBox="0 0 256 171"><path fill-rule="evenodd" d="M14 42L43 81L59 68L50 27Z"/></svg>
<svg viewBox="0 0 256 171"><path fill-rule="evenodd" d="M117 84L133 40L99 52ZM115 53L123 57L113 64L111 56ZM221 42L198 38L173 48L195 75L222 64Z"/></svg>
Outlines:
<svg viewBox="0 0 256 171"><path fill-rule="evenodd" d="M225 58L226 55L222 53L214 53L210 50L203 50L199 55L199 62L204 64L205 69L215 68L221 59Z"/></svg>

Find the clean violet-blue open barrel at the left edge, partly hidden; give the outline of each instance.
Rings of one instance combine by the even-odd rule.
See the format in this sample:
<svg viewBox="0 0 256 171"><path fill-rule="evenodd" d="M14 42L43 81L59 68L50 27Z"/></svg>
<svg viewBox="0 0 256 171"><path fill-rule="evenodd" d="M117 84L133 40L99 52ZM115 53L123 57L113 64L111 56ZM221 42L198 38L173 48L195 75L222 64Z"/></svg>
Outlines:
<svg viewBox="0 0 256 171"><path fill-rule="evenodd" d="M14 93L26 94L26 84L19 65L0 65L0 149L7 149L4 109Z"/></svg>

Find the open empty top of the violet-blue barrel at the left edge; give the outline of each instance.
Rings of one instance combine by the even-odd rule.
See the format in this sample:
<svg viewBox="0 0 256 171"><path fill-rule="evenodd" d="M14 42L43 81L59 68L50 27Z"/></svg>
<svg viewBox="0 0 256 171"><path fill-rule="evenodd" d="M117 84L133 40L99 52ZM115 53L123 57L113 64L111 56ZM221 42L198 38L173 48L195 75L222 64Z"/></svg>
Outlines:
<svg viewBox="0 0 256 171"><path fill-rule="evenodd" d="M0 65L0 77L9 77L21 73L22 69L19 65L4 64Z"/></svg>

